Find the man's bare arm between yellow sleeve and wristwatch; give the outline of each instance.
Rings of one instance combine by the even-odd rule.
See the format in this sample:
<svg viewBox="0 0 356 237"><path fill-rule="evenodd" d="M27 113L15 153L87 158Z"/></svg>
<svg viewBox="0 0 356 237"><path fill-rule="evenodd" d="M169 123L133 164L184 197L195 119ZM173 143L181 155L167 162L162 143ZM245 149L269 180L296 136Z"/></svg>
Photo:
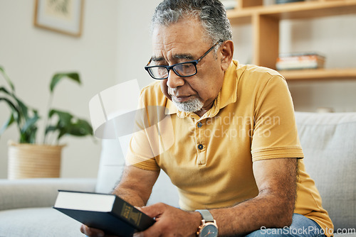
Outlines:
<svg viewBox="0 0 356 237"><path fill-rule="evenodd" d="M262 226L283 228L292 223L297 188L297 159L258 161L253 163L253 167L259 189L258 196L231 208L211 210L221 236L244 235ZM276 170L276 167L283 169Z"/></svg>

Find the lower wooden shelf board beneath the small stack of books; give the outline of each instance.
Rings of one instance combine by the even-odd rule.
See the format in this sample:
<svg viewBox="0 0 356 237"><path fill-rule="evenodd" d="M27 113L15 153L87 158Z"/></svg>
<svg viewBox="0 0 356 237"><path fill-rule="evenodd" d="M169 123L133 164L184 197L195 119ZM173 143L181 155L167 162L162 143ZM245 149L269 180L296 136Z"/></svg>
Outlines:
<svg viewBox="0 0 356 237"><path fill-rule="evenodd" d="M287 80L356 79L356 68L279 71Z"/></svg>

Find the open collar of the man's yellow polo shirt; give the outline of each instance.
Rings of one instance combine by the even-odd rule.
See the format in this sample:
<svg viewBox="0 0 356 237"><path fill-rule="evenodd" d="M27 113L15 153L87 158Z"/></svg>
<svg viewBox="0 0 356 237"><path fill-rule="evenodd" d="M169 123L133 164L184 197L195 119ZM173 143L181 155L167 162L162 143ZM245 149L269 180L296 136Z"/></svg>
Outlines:
<svg viewBox="0 0 356 237"><path fill-rule="evenodd" d="M228 69L225 72L224 75L224 82L221 87L221 90L218 94L218 97L216 97L213 106L209 111L207 111L204 117L213 117L216 116L216 114L219 113L219 110L224 108L225 106L235 103L237 99L237 75L236 75L236 69L239 67L239 62L236 60L232 60L231 64L229 65ZM166 114L177 114L179 118L184 118L184 117L195 117L197 114L194 114L192 112L183 112L179 111L177 109L177 106L173 104L172 101L167 99L167 113Z"/></svg>

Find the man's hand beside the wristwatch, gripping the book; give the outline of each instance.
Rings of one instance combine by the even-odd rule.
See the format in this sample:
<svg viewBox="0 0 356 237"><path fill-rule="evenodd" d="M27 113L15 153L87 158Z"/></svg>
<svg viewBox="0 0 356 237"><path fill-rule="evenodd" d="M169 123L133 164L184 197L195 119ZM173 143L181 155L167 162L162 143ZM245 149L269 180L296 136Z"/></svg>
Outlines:
<svg viewBox="0 0 356 237"><path fill-rule="evenodd" d="M135 237L196 236L201 224L199 212L182 211L163 203L143 206L140 210L155 218L156 223L146 231L136 233Z"/></svg>

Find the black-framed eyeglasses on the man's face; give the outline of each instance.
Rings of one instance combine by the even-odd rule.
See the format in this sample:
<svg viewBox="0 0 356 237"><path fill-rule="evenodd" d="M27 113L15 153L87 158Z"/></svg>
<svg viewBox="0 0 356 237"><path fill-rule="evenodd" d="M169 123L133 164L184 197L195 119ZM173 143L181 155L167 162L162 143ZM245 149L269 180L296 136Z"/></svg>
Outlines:
<svg viewBox="0 0 356 237"><path fill-rule="evenodd" d="M211 50L215 48L219 43L224 42L224 40L219 40L216 42L209 50L207 50L204 55L201 55L197 60L189 61L189 62L180 62L174 64L172 66L149 66L152 62L152 57L150 61L147 63L145 70L147 70L148 74L153 79L167 79L169 75L169 70L173 70L173 72L179 77L192 77L197 74L197 64L200 60L203 59Z"/></svg>

